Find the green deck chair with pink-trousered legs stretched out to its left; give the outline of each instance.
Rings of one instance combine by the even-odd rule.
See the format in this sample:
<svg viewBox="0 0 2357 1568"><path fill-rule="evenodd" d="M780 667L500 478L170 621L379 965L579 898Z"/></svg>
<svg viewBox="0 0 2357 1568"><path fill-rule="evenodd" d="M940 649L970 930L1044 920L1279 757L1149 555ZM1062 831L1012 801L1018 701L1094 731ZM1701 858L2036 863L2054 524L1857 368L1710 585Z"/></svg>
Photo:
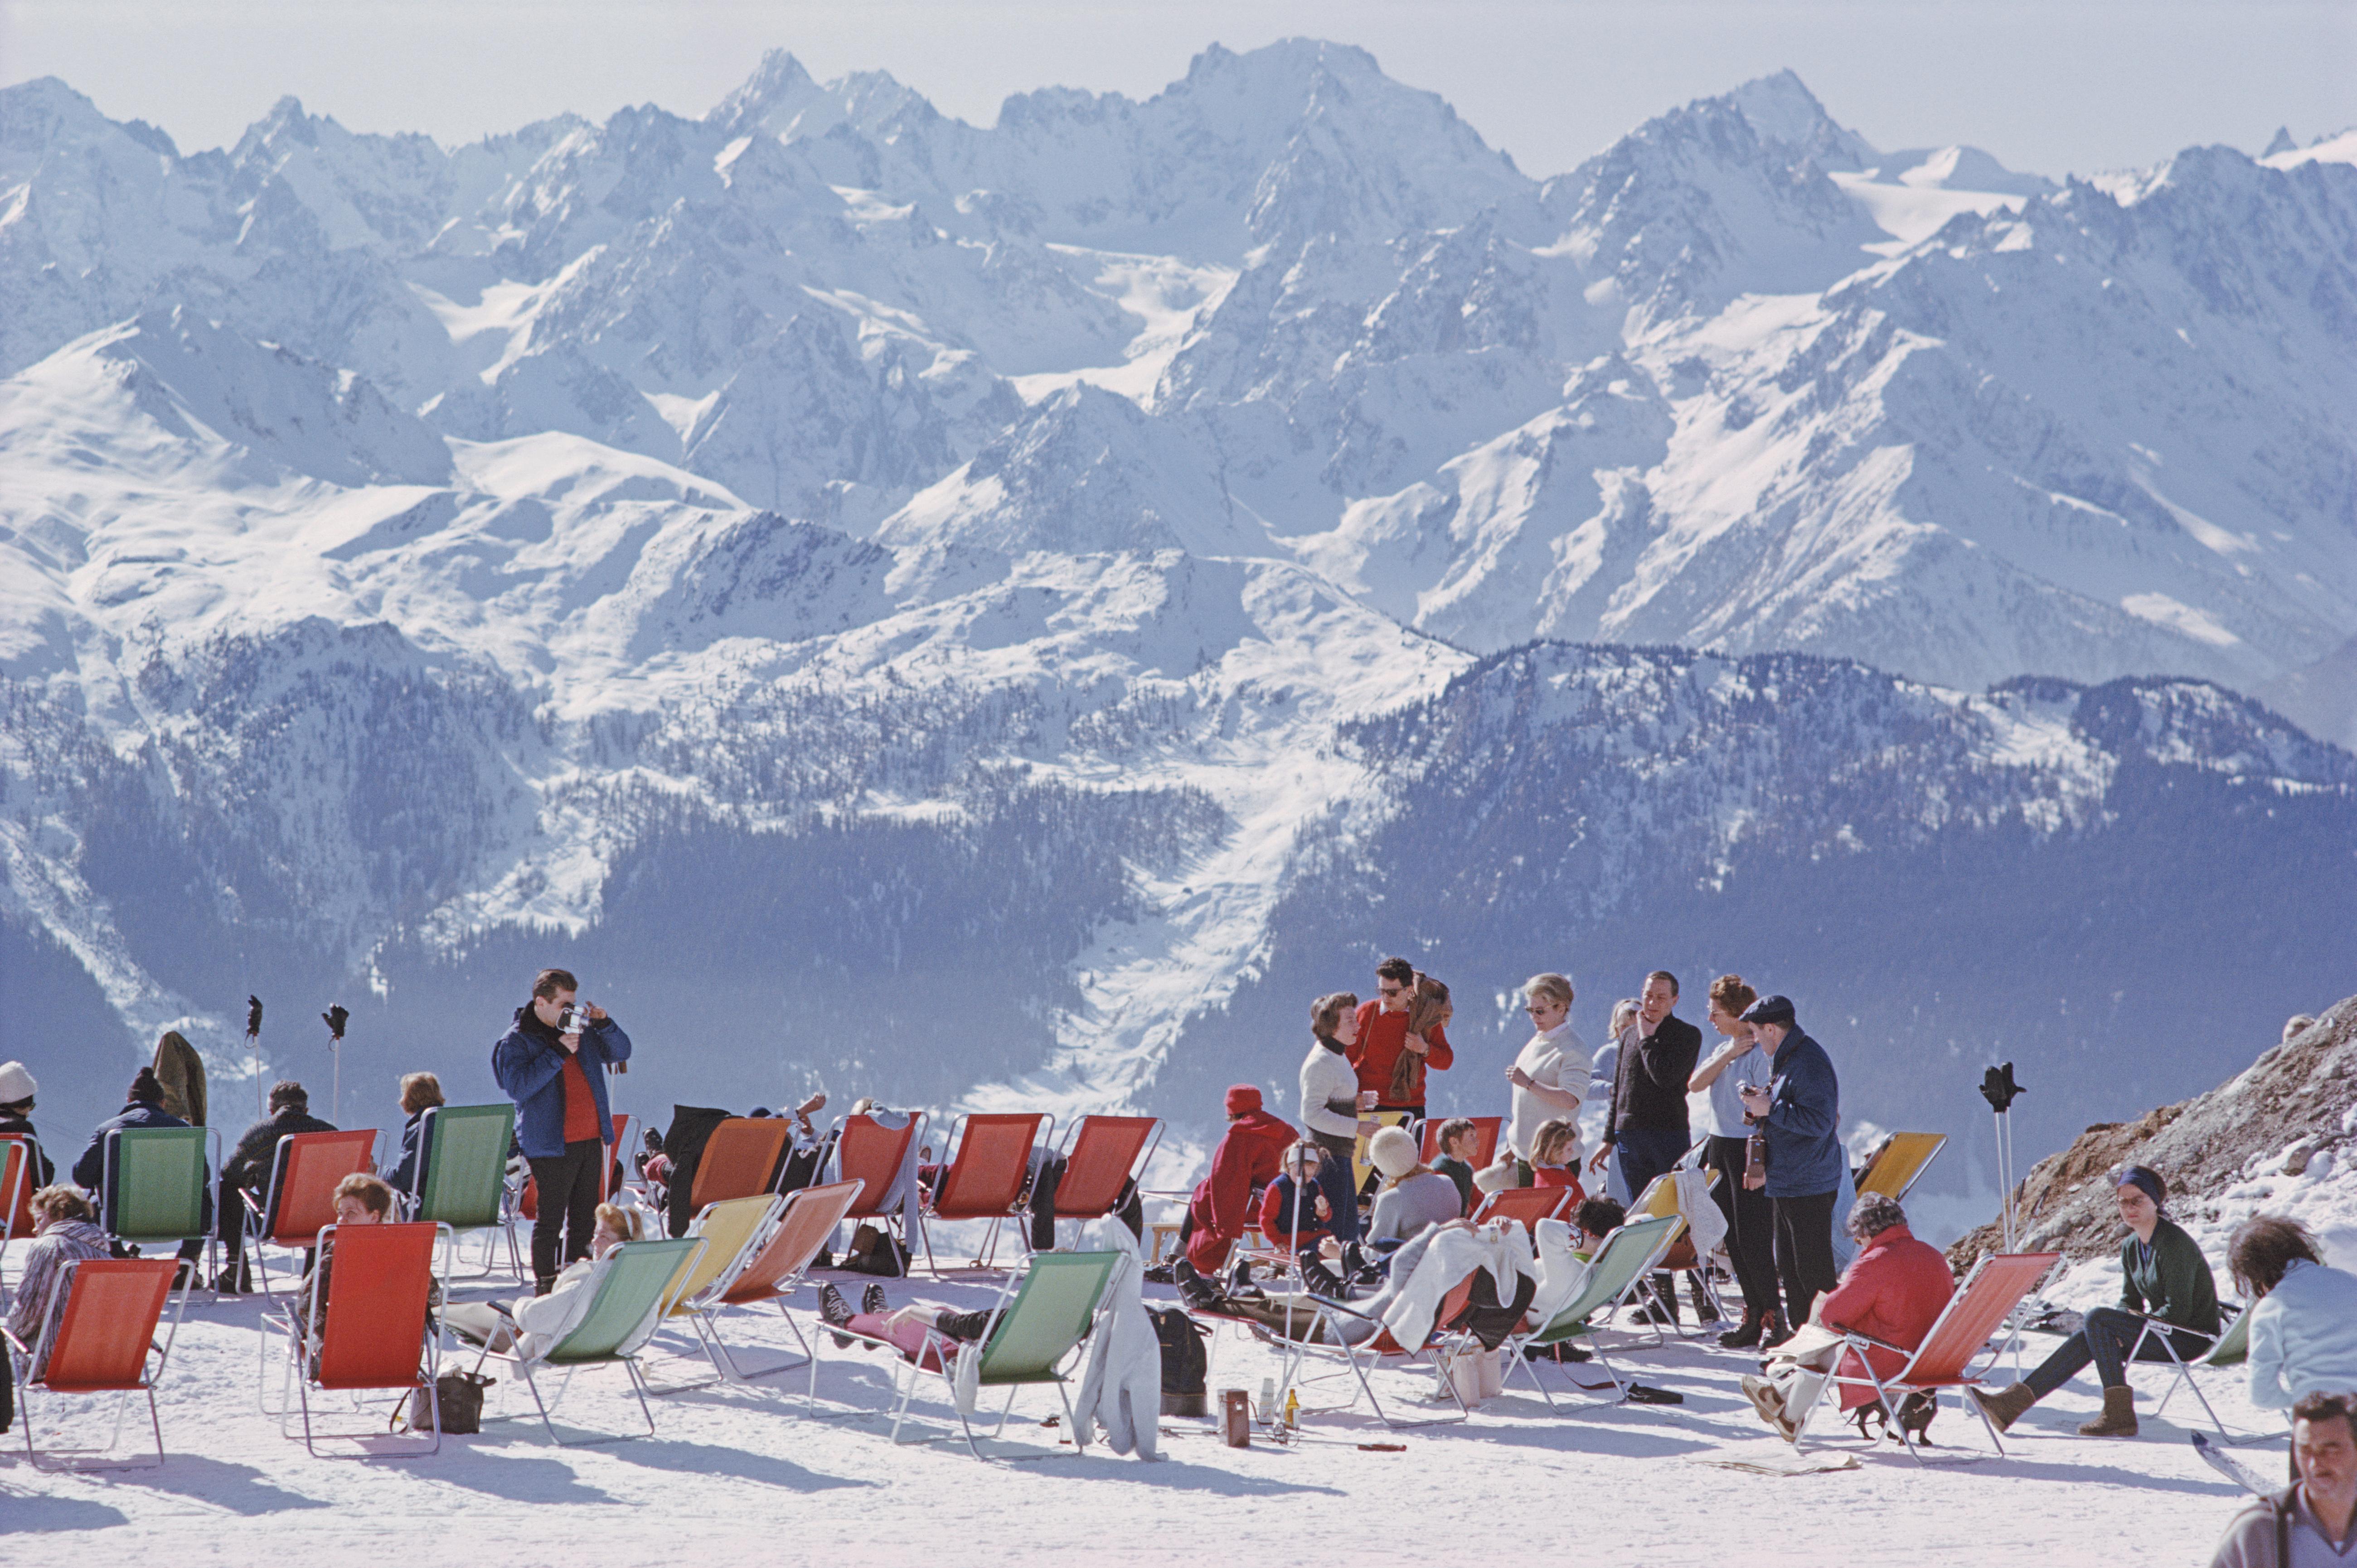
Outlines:
<svg viewBox="0 0 2357 1568"><path fill-rule="evenodd" d="M1072 1419L1072 1401L1063 1389L1068 1379L1056 1368L1089 1337L1096 1309L1103 1306L1105 1287L1113 1285L1113 1271L1122 1261L1122 1252L1035 1252L1030 1269L1006 1276L1006 1285L999 1290L995 1304L999 1316L990 1325L990 1337L981 1344L957 1344L948 1335L929 1330L924 1351L907 1358L884 1339L853 1332L853 1339L870 1339L893 1351L893 1377L900 1382L900 1401L891 1417L891 1441L900 1441L907 1403L915 1398L924 1375L931 1372L950 1382L957 1375L959 1356L981 1356L976 1386L1006 1389L1006 1405L999 1410L992 1438L1006 1434L1006 1417L1016 1408L1016 1394L1030 1384L1056 1384L1056 1398L1063 1401L1063 1429L1072 1434L1072 1452L1075 1457L1089 1452L1089 1434ZM955 1398L950 1401L950 1410L957 1412L957 1424L966 1434L966 1452L981 1460L983 1450L973 1443L973 1422L964 1410L957 1410ZM1023 1457L1051 1460L1056 1450Z"/></svg>

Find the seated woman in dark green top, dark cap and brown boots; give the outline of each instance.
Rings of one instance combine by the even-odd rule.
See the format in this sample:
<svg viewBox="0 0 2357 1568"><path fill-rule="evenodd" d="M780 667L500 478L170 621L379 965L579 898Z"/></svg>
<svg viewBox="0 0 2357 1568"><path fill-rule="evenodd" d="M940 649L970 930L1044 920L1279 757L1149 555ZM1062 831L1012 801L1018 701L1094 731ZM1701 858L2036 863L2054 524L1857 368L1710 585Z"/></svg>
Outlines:
<svg viewBox="0 0 2357 1568"><path fill-rule="evenodd" d="M2166 1332L2178 1356L2192 1361L2218 1337L2218 1283L2199 1243L2161 1214L2168 1186L2159 1172L2150 1165L2121 1165L2112 1172L2112 1184L2119 1188L2119 1217L2128 1224L2128 1238L2119 1243L2119 1306L2088 1311L2079 1332L2055 1346L2025 1382L1999 1394L1966 1389L1999 1431L2093 1361L2102 1379L2102 1415L2084 1422L2079 1436L2133 1438L2135 1403L2126 1370L2131 1346L2138 1361L2168 1361L2168 1349L2161 1346ZM2147 1320L2154 1332L2138 1344Z"/></svg>

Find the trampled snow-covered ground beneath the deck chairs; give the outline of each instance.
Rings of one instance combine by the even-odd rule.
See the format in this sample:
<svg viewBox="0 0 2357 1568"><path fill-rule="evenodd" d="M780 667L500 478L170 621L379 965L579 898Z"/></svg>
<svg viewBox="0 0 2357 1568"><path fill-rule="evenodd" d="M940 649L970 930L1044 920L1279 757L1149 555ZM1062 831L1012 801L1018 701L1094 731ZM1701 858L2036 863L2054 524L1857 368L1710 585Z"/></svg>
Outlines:
<svg viewBox="0 0 2357 1568"><path fill-rule="evenodd" d="M2315 1167L2310 1167L2315 1172ZM2352 1236L2357 1179L2315 1172L2298 1191L2244 1193L2291 1203L2329 1236ZM2204 1243L2216 1238L2204 1228ZM2345 1243L2343 1243L2345 1247ZM2213 1259L2220 1264L2223 1259ZM2341 1252L2341 1261L2350 1259ZM2100 1269L2062 1294L2100 1299ZM837 1276L856 1294L860 1276ZM983 1304L981 1276L891 1280L891 1302ZM471 1294L471 1292L462 1292ZM1167 1290L1150 1290L1167 1297ZM804 1311L808 1302L804 1299ZM1211 1422L1162 1422L1162 1462L1091 1448L1039 1464L976 1464L959 1443L891 1448L884 1363L820 1342L816 1410L794 1375L775 1394L691 1391L655 1401L658 1436L603 1448L552 1448L523 1391L502 1382L483 1436L448 1438L424 1460L313 1460L257 1408L252 1299L198 1299L163 1389L170 1462L111 1476L47 1476L21 1450L0 1457L0 1535L42 1535L14 1561L123 1563L144 1551L177 1563L384 1559L464 1554L493 1563L747 1561L1261 1561L1282 1551L1358 1556L1574 1554L1579 1561L1725 1563L2192 1563L2204 1561L2239 1495L2187 1443L2197 1408L2176 1398L2164 1419L2147 1389L2135 1441L2072 1434L2095 1408L2072 1384L2025 1417L1994 1457L1978 1422L1945 1408L1933 1424L1942 1462L1919 1469L1897 1443L1864 1448L1820 1417L1810 1450L1855 1455L1850 1469L1765 1476L1711 1464L1732 1450L1782 1450L1751 1415L1737 1379L1754 1368L1699 1339L1648 1349L1615 1335L1638 1379L1685 1396L1676 1408L1598 1405L1553 1382L1551 1412L1523 1379L1471 1422L1384 1431L1362 1410L1310 1412L1299 1441L1230 1450ZM778 1318L745 1313L731 1344L783 1349ZM2029 1365L2053 1344L2034 1335ZM1259 1391L1275 1358L1221 1332L1211 1389ZM1593 1375L1586 1368L1567 1368ZM1541 1370L1558 1379L1558 1370ZM2282 1417L2242 1394L2242 1375L2201 1372L2218 1415L2260 1436L2242 1457L2282 1469ZM658 1368L658 1382L662 1368ZM1431 1415L1431 1377L1381 1372L1395 1415ZM1341 1384L1310 1405L1341 1401ZM620 1375L589 1372L559 1408L618 1429L636 1417ZM919 1403L940 1434L948 1408ZM1014 1443L1044 1452L1061 1429L1047 1391L1016 1401ZM382 1419L382 1405L379 1415ZM1367 1443L1398 1443L1369 1450ZM349 1445L346 1445L349 1448Z"/></svg>

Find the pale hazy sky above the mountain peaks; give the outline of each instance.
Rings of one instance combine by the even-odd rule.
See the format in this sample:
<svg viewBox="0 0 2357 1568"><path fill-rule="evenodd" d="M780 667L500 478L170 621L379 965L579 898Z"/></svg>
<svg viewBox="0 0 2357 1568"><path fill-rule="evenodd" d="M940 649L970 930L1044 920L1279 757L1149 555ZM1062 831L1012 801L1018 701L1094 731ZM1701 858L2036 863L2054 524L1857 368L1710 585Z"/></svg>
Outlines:
<svg viewBox="0 0 2357 1568"><path fill-rule="evenodd" d="M783 45L988 123L1009 92L1143 97L1207 42L1282 35L1365 45L1532 174L1780 66L1883 149L1970 141L2046 174L2357 125L2352 0L0 0L0 83L61 75L184 151L288 92L467 141L559 111L702 113Z"/></svg>

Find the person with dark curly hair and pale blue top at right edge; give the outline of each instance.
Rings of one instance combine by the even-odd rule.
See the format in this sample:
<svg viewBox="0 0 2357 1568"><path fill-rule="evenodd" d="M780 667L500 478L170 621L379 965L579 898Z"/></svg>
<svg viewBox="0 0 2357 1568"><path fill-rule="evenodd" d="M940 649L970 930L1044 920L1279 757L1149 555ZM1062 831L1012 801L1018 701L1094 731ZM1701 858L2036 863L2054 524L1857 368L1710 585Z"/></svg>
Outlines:
<svg viewBox="0 0 2357 1568"><path fill-rule="evenodd" d="M2251 1302L2251 1403L2357 1394L2357 1273L2326 1269L2308 1226L2275 1214L2234 1228L2227 1264Z"/></svg>

